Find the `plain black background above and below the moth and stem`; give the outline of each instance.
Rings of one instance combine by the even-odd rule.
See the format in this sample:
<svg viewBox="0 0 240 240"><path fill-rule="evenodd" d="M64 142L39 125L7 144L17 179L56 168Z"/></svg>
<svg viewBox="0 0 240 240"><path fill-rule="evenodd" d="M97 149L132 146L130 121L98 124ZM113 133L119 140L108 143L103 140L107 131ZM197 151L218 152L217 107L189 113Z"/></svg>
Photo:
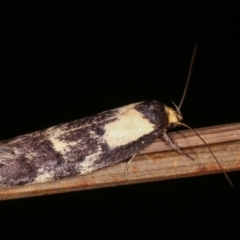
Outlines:
<svg viewBox="0 0 240 240"><path fill-rule="evenodd" d="M237 1L236 1L237 3ZM193 128L240 121L239 10L205 1L1 4L0 138L142 100ZM229 173L0 202L1 235L240 238ZM1 237L2 238L2 237Z"/></svg>

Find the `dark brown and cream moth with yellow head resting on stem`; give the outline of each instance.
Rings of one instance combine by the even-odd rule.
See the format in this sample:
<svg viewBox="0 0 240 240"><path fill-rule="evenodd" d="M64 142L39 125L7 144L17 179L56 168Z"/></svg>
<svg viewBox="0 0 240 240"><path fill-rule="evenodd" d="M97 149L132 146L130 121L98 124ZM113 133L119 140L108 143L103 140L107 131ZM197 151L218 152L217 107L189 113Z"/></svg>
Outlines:
<svg viewBox="0 0 240 240"><path fill-rule="evenodd" d="M176 110L143 101L0 143L0 184L19 186L87 174L135 156L159 136L184 154L167 130L184 125L180 108L195 53L196 48Z"/></svg>

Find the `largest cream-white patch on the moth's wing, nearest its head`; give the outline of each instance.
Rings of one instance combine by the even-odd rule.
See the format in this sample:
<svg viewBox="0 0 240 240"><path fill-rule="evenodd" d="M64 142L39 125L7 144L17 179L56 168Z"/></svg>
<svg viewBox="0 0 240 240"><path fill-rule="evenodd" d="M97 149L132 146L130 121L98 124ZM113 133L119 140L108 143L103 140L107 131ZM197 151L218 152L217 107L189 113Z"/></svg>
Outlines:
<svg viewBox="0 0 240 240"><path fill-rule="evenodd" d="M103 139L111 148L136 141L154 130L155 125L134 109L137 104L119 108L118 119L106 124Z"/></svg>

